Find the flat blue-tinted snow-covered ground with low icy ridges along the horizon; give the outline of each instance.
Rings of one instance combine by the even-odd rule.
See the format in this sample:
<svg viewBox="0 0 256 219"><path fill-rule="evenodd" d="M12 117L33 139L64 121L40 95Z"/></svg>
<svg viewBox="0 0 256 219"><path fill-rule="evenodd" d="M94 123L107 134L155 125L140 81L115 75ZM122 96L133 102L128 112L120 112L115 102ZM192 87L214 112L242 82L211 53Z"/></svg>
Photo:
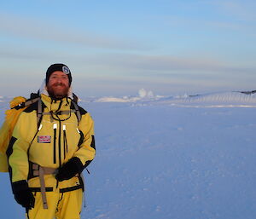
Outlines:
<svg viewBox="0 0 256 219"><path fill-rule="evenodd" d="M144 91L81 102L95 120L97 149L84 173L82 218L255 218L256 96ZM0 108L3 122L8 101ZM1 218L22 218L7 174L0 184Z"/></svg>

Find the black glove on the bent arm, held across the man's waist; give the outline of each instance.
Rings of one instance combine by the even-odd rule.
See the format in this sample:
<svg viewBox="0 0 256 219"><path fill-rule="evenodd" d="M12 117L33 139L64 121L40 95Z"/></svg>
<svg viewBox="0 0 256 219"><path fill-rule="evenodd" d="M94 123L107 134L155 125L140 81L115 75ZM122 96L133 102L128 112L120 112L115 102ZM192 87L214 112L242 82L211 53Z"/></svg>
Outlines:
<svg viewBox="0 0 256 219"><path fill-rule="evenodd" d="M55 178L57 181L61 182L64 180L69 180L76 174L80 174L83 170L83 164L81 160L77 157L71 158L66 164L63 164L56 174Z"/></svg>

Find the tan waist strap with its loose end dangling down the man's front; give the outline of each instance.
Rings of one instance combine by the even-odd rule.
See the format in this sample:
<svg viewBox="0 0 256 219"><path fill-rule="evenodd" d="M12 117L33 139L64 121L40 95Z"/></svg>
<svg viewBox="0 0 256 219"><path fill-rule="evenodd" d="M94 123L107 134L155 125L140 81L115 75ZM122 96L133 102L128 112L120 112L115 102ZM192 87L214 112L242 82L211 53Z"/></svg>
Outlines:
<svg viewBox="0 0 256 219"><path fill-rule="evenodd" d="M33 170L33 176L39 176L40 192L42 194L43 206L44 206L44 209L48 209L44 175L56 174L58 170L55 168L43 167L38 164L32 164L32 170Z"/></svg>

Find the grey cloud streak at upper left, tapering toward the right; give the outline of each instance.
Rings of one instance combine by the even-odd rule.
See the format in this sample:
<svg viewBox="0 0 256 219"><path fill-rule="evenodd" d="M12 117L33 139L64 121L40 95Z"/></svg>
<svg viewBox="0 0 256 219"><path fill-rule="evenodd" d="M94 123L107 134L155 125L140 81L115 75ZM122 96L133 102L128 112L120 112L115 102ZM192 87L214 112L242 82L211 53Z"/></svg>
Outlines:
<svg viewBox="0 0 256 219"><path fill-rule="evenodd" d="M144 50L149 46L132 39L121 39L113 36L102 36L84 29L70 26L59 26L41 20L19 17L14 14L0 14L0 32L13 37L36 39L57 43L69 43L96 49Z"/></svg>

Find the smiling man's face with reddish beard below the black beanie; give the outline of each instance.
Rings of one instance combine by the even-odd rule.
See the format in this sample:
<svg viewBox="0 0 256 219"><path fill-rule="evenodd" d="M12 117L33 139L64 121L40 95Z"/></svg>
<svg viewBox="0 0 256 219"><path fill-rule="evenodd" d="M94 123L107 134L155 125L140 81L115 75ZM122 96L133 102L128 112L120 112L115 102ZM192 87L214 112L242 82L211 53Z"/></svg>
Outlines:
<svg viewBox="0 0 256 219"><path fill-rule="evenodd" d="M67 74L56 71L49 76L49 82L47 84L47 91L50 96L57 99L61 99L67 96L69 89L69 81Z"/></svg>

